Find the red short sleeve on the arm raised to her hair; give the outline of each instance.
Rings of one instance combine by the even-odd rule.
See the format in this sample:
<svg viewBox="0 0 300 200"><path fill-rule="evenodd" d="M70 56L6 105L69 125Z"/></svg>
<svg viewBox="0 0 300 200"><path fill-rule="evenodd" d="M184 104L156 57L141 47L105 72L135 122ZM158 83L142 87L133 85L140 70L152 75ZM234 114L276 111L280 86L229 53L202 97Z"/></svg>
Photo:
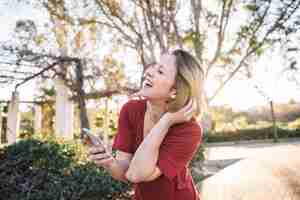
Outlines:
<svg viewBox="0 0 300 200"><path fill-rule="evenodd" d="M192 160L202 141L202 129L196 123L184 128L174 128L165 137L157 166L172 180Z"/></svg>

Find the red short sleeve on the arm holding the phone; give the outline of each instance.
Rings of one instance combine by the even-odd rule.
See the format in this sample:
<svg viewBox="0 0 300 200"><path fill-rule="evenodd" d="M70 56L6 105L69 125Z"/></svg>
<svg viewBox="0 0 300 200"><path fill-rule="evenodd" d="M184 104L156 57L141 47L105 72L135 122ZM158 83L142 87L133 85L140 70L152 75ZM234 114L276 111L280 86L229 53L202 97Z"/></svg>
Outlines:
<svg viewBox="0 0 300 200"><path fill-rule="evenodd" d="M131 109L130 102L123 105L118 119L117 134L114 138L113 149L124 151L126 153L134 153L134 136L133 129L130 124L129 110Z"/></svg>

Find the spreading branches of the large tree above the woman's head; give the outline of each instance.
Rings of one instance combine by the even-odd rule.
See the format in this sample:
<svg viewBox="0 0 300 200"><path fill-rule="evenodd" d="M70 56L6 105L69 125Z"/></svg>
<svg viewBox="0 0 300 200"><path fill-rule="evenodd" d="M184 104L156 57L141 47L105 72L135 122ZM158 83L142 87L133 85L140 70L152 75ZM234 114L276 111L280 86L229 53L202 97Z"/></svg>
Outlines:
<svg viewBox="0 0 300 200"><path fill-rule="evenodd" d="M281 41L281 35L287 36L299 26L298 0L223 0L216 5L201 0L94 2L103 18L81 21L97 22L118 32L120 41L136 50L144 66L155 59L156 52L177 44L189 46L206 66L206 77L211 71L220 71L220 86L210 100L267 47ZM186 10L189 15L184 23L179 13ZM245 20L236 22L239 16Z"/></svg>

